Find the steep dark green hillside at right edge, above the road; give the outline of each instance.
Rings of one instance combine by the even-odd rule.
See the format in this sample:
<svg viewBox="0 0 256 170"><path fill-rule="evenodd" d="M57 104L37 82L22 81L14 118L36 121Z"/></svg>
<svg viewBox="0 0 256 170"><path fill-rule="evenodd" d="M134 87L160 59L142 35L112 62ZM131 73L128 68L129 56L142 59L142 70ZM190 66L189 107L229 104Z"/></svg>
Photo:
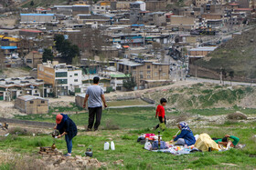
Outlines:
<svg viewBox="0 0 256 170"><path fill-rule="evenodd" d="M234 79L256 79L256 29L244 32L220 45L196 65L219 72L234 71ZM206 75L207 76L207 75Z"/></svg>

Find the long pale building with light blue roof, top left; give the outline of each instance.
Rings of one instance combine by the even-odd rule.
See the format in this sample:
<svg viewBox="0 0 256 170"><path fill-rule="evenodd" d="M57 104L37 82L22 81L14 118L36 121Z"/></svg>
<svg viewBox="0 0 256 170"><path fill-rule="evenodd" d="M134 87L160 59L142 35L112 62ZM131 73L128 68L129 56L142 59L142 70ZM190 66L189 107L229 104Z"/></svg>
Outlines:
<svg viewBox="0 0 256 170"><path fill-rule="evenodd" d="M21 23L52 23L57 22L54 14L20 14Z"/></svg>

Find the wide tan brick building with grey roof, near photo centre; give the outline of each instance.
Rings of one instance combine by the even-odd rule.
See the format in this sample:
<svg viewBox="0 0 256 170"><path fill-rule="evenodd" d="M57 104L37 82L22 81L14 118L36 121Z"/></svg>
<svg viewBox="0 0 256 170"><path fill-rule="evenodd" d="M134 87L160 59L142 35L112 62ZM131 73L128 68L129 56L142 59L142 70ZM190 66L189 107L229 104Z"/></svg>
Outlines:
<svg viewBox="0 0 256 170"><path fill-rule="evenodd" d="M132 74L138 88L146 88L146 84L169 80L169 64L155 60L122 59L117 63L117 70L124 74ZM151 85L152 86L152 85Z"/></svg>

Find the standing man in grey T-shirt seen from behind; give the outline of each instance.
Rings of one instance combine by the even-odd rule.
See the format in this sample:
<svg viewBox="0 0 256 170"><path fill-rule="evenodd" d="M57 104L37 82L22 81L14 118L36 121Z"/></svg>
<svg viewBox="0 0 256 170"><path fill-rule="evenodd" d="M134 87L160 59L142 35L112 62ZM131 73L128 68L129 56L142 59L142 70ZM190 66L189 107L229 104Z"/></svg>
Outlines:
<svg viewBox="0 0 256 170"><path fill-rule="evenodd" d="M88 101L89 109L89 125L87 127L87 131L91 131L95 115L96 122L94 124L94 131L98 130L98 127L101 124L102 102L104 107L107 107L104 92L101 86L99 86L99 82L100 78L98 76L93 77L93 85L88 87L84 98L83 108L85 108Z"/></svg>

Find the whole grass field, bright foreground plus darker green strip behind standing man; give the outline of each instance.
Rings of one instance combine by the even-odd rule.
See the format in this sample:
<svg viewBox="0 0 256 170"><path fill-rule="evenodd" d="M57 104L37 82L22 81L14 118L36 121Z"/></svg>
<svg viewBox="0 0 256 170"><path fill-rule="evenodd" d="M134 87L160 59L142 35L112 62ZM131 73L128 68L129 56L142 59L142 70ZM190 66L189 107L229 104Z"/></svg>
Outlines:
<svg viewBox="0 0 256 170"><path fill-rule="evenodd" d="M75 108L75 109L74 109ZM67 110L68 108L53 108L54 110ZM219 108L219 109L202 109L191 110L191 114L199 115L223 115L232 113L236 108ZM68 110L78 110L78 107L71 107ZM255 109L243 109L243 113L254 114ZM216 114L217 113L217 114ZM172 115L171 113L166 113ZM178 113L175 113L177 115ZM87 125L88 114L80 113L69 115L77 125ZM54 115L27 115L16 116L27 120L47 121L54 123ZM191 126L194 135L207 133L211 137L222 137L226 134L235 135L240 138L240 143L246 147L242 150L231 149L226 152L206 152L191 155L170 155L164 153L153 153L143 149L143 145L136 142L137 136L142 133L155 133L152 127L158 123L155 119L155 108L123 108L123 109L106 109L103 111L101 129L99 132L80 131L79 135L73 140L73 155L84 155L86 147L92 145L93 157L101 162L108 163L109 169L253 169L256 168L256 121L250 123L226 121L223 125L209 124L208 127L198 128ZM118 128L112 128L117 125ZM116 130L110 130L116 129ZM132 130L131 130L132 129ZM169 128L163 135L164 141L171 140L171 136L177 132L176 128ZM115 151L104 151L104 142L114 141ZM9 135L2 138L0 150L11 149L16 153L37 155L38 146L52 145L53 139L50 135ZM77 145L86 145L78 147ZM57 147L66 152L66 143L64 138L56 140ZM114 161L123 160L122 165L112 164ZM1 166L0 166L1 167Z"/></svg>

